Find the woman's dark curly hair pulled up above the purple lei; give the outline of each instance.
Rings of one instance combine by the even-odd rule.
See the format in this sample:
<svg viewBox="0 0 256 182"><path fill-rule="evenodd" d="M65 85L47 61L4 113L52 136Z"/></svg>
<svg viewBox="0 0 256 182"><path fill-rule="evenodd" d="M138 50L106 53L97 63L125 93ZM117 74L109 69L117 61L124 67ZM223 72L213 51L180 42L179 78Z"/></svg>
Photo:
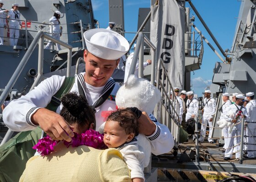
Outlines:
<svg viewBox="0 0 256 182"><path fill-rule="evenodd" d="M96 123L94 111L85 99L85 96L78 96L75 92L67 93L61 98L63 105L60 116L64 117L69 125L77 123L78 126Z"/></svg>

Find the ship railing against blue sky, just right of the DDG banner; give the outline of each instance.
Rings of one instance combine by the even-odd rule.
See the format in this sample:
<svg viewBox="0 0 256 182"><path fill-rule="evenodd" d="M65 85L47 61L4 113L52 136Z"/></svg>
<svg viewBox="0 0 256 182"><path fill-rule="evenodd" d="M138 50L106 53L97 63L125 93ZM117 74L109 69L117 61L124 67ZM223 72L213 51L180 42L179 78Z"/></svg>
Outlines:
<svg viewBox="0 0 256 182"><path fill-rule="evenodd" d="M199 65L203 60L203 37L201 32L186 32L187 37L191 37L191 40L185 40L185 44L188 44L188 48L185 47L185 52L189 56L197 56Z"/></svg>

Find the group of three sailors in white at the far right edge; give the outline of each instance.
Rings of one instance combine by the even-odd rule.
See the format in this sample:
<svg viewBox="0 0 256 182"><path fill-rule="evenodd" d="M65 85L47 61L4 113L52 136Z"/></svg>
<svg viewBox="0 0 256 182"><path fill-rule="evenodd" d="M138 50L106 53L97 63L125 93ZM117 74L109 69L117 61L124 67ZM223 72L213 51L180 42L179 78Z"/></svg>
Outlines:
<svg viewBox="0 0 256 182"><path fill-rule="evenodd" d="M222 96L223 105L220 108L220 119L232 122L229 127L222 129L224 137L224 160L240 157L240 142L244 142L244 157L256 158L256 100L254 92L245 94L232 94L232 101L229 100L229 93ZM245 100L247 104L245 105ZM233 113L233 114L232 114ZM245 128L242 128L242 118L245 120ZM241 130L245 129L244 141L241 141ZM243 151L242 151L243 152Z"/></svg>

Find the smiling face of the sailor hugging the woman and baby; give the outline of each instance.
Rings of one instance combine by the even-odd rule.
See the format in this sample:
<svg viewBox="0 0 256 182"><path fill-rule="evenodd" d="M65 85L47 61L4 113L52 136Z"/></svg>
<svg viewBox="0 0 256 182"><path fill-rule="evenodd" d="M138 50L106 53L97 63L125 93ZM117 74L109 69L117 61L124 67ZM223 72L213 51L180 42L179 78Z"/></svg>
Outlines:
<svg viewBox="0 0 256 182"><path fill-rule="evenodd" d="M84 60L85 82L96 87L104 86L107 83L119 63L119 59L105 60L88 51L84 52Z"/></svg>

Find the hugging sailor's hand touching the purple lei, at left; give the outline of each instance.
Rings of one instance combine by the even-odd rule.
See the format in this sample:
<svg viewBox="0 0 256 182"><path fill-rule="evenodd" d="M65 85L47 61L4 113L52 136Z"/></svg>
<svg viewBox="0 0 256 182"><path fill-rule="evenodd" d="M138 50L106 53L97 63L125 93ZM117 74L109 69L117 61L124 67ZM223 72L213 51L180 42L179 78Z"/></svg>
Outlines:
<svg viewBox="0 0 256 182"><path fill-rule="evenodd" d="M38 109L31 117L35 125L39 125L53 140L71 141L74 133L73 126L64 120L59 114L45 108Z"/></svg>

